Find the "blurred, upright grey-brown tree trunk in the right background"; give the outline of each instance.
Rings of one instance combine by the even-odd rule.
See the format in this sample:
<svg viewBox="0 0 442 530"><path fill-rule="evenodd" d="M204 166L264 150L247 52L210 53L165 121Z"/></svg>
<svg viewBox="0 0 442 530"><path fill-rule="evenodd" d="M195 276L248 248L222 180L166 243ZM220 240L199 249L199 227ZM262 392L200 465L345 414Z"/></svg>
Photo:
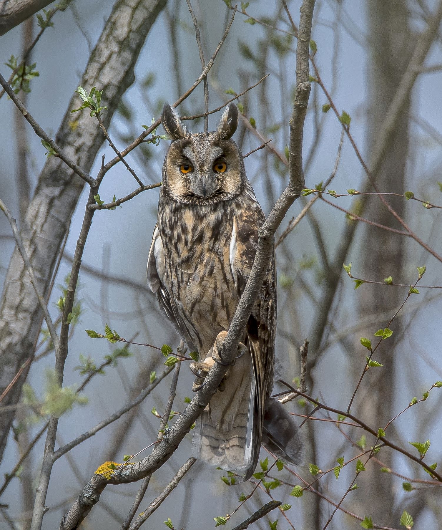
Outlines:
<svg viewBox="0 0 442 530"><path fill-rule="evenodd" d="M379 129L390 108L394 95L400 85L411 56L410 27L408 6L403 0L384 2L383 0L368 0L369 33L373 36L370 48L370 60L367 72L370 107L367 120L367 153L371 155L375 149ZM377 183L382 191L403 193L405 190L405 166L409 144L409 112L410 96L406 99L397 119L397 124L391 133L391 143L384 160L377 173ZM397 200L399 199L399 200ZM389 199L397 213L402 217L404 201L401 198ZM366 211L370 220L393 228L400 225L388 212L378 197L374 196L367 202ZM366 227L362 241L369 241L363 246L361 253L362 278L379 279L393 276L402 277L402 261L404 252L404 238L383 231L379 228ZM404 293L400 289L388 288L382 285L370 285L358 297L360 317L382 311L393 310L403 301ZM392 313L393 315L393 313ZM391 316L392 316L391 315ZM394 323L394 337L399 337L400 321ZM387 322L378 322L375 328L363 331L363 337L373 337L374 331L385 327ZM376 359L382 358L382 383L378 384L379 373L369 370L366 375L365 388L372 388L361 405L360 418L370 425L376 423L385 426L394 416L392 411L394 387L394 343L383 342L376 352ZM355 365L357 377L361 372L361 359L356 356ZM365 388L363 392L365 391ZM365 393L365 392L364 392ZM391 452L382 455L386 466L392 465ZM385 476L384 476L385 475ZM367 466L364 482L368 485L366 491L377 491L370 501L373 519L382 524L393 524L389 521L393 509L392 475L384 473L379 479L376 466Z"/></svg>

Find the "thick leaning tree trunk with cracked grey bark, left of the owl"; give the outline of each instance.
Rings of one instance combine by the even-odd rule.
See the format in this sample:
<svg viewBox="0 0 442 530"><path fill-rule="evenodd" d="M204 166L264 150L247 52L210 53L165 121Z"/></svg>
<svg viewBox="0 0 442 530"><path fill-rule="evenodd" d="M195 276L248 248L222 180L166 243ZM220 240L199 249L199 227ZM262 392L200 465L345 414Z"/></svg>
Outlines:
<svg viewBox="0 0 442 530"><path fill-rule="evenodd" d="M92 51L81 84L103 90L102 105L108 110L103 122L109 126L122 94L134 82L134 66L152 24L166 0L118 0ZM73 90L76 87L73 87ZM103 142L103 134L89 112L76 114L71 127L69 102L56 136L56 143L85 171L89 172ZM84 182L58 157L50 157L43 168L37 189L26 211L21 236L39 281L47 293L52 271L75 210ZM17 249L6 274L0 307L0 392L12 381L23 361L33 355L41 326L41 311L28 273ZM15 404L26 378L24 370L2 404ZM13 413L0 417L0 460L3 456Z"/></svg>

